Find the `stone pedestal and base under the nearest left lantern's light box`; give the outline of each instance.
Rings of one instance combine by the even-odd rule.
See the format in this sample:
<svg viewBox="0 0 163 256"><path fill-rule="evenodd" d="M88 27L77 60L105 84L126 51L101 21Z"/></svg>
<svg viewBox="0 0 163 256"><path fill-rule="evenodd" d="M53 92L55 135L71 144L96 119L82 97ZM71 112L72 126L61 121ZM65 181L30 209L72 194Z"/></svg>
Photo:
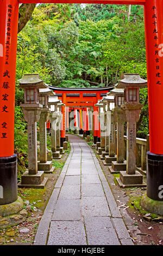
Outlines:
<svg viewBox="0 0 163 256"><path fill-rule="evenodd" d="M25 106L24 106L25 105ZM22 105L24 119L28 126L28 171L23 173L18 187L43 188L48 178L37 168L37 121L40 119L41 108Z"/></svg>

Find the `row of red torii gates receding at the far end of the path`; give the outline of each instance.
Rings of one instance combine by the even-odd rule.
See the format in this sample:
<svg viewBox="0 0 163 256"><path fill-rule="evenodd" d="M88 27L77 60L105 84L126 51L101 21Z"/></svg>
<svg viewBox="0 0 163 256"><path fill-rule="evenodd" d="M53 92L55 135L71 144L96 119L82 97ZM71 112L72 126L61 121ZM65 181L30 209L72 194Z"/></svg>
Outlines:
<svg viewBox="0 0 163 256"><path fill-rule="evenodd" d="M55 92L58 99L65 105L61 109L61 147L62 143L66 140L65 132L70 130L85 136L90 135L91 130L94 144L100 142L99 108L96 106L96 103L102 100L103 96L106 96L114 86L107 88L49 88ZM47 122L47 129L51 129L49 120Z"/></svg>

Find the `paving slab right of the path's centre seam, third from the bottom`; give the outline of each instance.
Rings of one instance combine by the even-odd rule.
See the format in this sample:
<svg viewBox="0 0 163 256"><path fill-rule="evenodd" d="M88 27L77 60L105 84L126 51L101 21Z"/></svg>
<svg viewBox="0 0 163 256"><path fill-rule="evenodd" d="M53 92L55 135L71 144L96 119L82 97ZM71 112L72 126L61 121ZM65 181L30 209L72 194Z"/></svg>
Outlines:
<svg viewBox="0 0 163 256"><path fill-rule="evenodd" d="M104 197L101 184L82 184L82 197Z"/></svg>

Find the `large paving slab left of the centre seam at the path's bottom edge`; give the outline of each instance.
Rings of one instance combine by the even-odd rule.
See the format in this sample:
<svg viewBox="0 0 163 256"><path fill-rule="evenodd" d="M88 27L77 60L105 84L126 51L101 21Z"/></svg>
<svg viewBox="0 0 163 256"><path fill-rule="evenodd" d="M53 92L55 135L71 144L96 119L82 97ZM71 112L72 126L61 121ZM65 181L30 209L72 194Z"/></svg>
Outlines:
<svg viewBox="0 0 163 256"><path fill-rule="evenodd" d="M84 224L80 221L52 221L48 245L86 245Z"/></svg>

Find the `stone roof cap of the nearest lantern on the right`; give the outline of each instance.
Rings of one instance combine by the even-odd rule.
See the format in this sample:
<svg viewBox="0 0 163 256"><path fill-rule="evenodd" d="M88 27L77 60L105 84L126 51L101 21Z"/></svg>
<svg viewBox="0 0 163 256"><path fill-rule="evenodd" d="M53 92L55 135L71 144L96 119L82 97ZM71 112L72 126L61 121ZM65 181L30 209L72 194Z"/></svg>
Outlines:
<svg viewBox="0 0 163 256"><path fill-rule="evenodd" d="M129 86L137 86L140 88L147 86L147 80L142 79L139 74L124 74L124 78L120 80L117 88L126 88Z"/></svg>

